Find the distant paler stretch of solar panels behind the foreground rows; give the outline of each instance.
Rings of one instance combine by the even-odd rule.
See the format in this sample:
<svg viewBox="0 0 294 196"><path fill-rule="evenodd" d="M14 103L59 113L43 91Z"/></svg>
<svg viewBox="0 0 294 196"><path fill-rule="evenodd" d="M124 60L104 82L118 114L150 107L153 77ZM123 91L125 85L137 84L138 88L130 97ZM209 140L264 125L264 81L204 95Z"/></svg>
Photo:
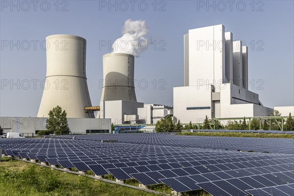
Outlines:
<svg viewBox="0 0 294 196"><path fill-rule="evenodd" d="M70 135L57 136L72 139ZM293 153L293 139L277 138L236 138L212 136L179 136L169 133L142 134L98 134L76 135L75 140L101 141L118 140L120 143L156 145L170 147L193 147L205 149L239 150L270 153Z"/></svg>

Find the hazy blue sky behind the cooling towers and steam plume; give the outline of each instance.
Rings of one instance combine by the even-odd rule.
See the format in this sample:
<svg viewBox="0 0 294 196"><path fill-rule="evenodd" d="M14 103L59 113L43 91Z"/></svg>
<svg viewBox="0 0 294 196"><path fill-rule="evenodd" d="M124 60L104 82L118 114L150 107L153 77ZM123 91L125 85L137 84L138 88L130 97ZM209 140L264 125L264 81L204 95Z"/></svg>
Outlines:
<svg viewBox="0 0 294 196"><path fill-rule="evenodd" d="M145 88L135 83L138 101L172 105L172 88L184 84L183 35L189 29L223 24L234 40L244 40L248 46L249 90L258 93L265 106L294 105L293 1L126 0L111 4L108 0L49 0L35 5L1 0L0 116L37 115L43 93L40 84L46 75L46 51L40 43L51 34L87 40L88 87L92 104L99 105L102 55L111 52L99 43L121 37L128 19L146 21L147 38L156 43L135 59L135 79L148 83Z"/></svg>

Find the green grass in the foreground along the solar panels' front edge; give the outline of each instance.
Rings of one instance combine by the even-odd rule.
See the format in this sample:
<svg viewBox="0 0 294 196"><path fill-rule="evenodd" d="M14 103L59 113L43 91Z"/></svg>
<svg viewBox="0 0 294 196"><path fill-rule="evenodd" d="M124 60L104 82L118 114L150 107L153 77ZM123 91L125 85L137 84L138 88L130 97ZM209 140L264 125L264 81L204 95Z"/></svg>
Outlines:
<svg viewBox="0 0 294 196"><path fill-rule="evenodd" d="M108 178L111 179L109 176ZM128 180L126 183L134 186L139 184L135 180ZM150 189L171 193L171 189L163 184ZM163 193L159 196L165 195L167 194ZM2 157L0 196L155 196L155 194ZM185 193L184 196L210 195L195 191Z"/></svg>

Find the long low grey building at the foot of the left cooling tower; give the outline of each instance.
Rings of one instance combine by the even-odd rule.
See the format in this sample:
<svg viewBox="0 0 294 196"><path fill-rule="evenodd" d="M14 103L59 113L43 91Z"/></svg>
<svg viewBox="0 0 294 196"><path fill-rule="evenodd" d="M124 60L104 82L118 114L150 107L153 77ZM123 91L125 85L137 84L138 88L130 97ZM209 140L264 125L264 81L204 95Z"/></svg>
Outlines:
<svg viewBox="0 0 294 196"><path fill-rule="evenodd" d="M0 124L4 130L35 135L36 130L46 130L46 120L38 117L0 117ZM110 119L68 118L68 124L72 134L86 134L86 130L111 131Z"/></svg>

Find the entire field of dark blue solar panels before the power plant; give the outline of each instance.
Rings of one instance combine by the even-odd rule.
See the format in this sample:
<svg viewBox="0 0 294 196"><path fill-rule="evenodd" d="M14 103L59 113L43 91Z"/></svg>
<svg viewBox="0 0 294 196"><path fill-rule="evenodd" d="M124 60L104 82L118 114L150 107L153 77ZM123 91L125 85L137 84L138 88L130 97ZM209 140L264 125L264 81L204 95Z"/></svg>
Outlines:
<svg viewBox="0 0 294 196"><path fill-rule="evenodd" d="M164 183L177 192L203 189L213 196L294 193L293 139L171 134L59 138L62 139L0 139L0 147L6 155L93 171L96 175L112 174L119 180L134 178L146 186ZM246 152L251 150L255 152Z"/></svg>

